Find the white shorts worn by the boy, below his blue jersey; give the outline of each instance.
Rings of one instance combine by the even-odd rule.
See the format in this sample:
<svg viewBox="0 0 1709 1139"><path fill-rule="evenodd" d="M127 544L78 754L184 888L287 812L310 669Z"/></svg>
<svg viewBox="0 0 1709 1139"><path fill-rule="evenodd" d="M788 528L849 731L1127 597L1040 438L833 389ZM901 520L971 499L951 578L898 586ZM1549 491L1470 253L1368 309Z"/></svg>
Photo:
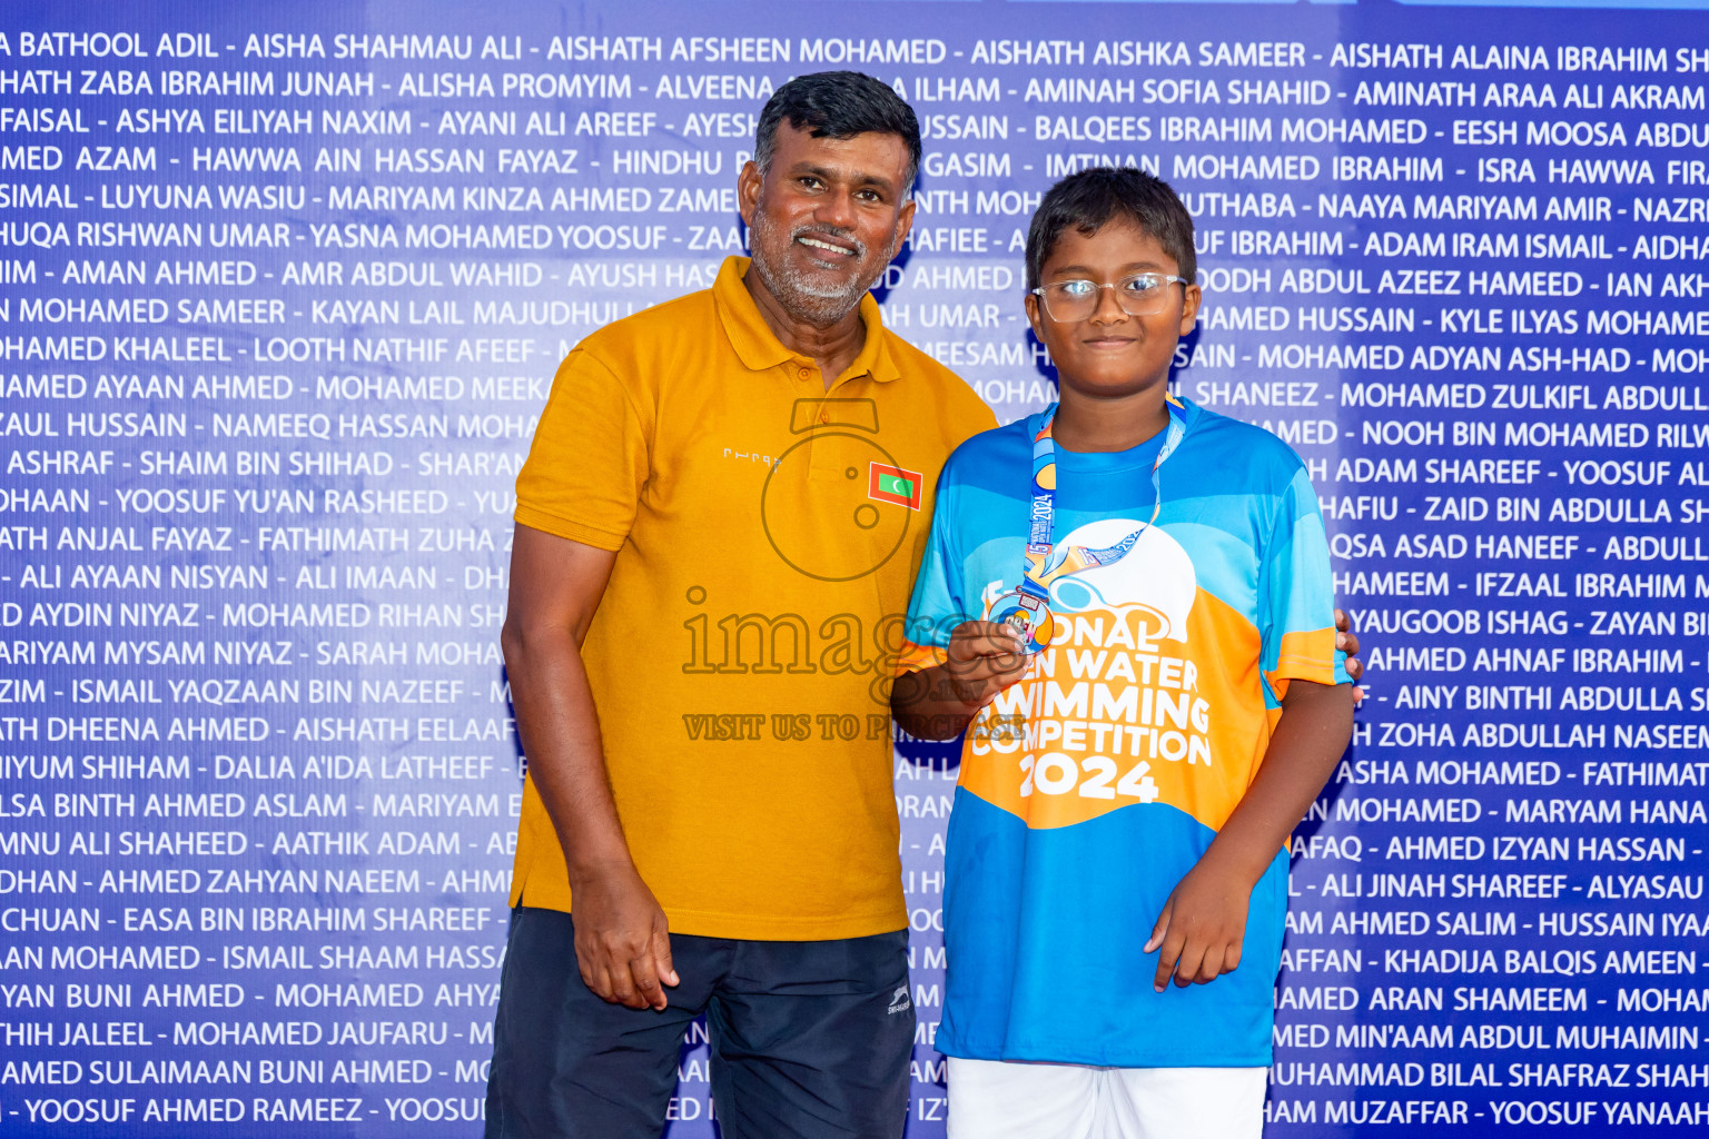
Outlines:
<svg viewBox="0 0 1709 1139"><path fill-rule="evenodd" d="M1268 1067L950 1057L948 1139L1260 1139Z"/></svg>

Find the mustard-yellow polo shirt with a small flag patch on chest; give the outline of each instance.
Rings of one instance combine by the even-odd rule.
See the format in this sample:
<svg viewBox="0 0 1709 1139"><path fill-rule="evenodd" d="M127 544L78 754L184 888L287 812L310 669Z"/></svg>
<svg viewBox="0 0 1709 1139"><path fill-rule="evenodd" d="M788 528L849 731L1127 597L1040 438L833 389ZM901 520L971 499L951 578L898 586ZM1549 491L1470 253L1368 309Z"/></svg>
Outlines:
<svg viewBox="0 0 1709 1139"><path fill-rule="evenodd" d="M615 550L583 644L617 813L673 932L902 929L889 683L938 470L991 412L884 330L825 391L730 258L559 365L523 526ZM513 905L569 910L530 780Z"/></svg>

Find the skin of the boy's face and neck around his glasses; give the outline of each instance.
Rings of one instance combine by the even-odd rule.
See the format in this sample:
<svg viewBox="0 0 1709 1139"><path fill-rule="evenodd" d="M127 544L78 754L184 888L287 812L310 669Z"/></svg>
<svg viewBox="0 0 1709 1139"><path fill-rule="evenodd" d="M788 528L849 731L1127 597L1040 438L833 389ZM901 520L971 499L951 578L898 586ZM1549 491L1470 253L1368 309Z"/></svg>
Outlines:
<svg viewBox="0 0 1709 1139"><path fill-rule="evenodd" d="M1114 285L1135 273L1179 273L1174 258L1150 234L1126 220L1111 220L1087 236L1070 225L1056 237L1044 260L1041 285L1089 280ZM1061 386L1061 427L1080 434L1090 418L1114 427L1143 429L1128 446L1136 446L1167 423L1164 393L1176 342L1198 319L1198 285L1166 285L1169 297L1159 312L1131 316L1114 289L1097 290L1097 307L1078 321L1060 321L1036 294L1027 294L1027 319L1051 352ZM1101 423L1101 425L1104 425ZM1061 430L1061 427L1058 430ZM1130 434L1118 432L1118 434ZM1092 432L1104 437L1104 430ZM1073 439L1063 439L1073 447ZM1094 446L1092 449L1104 449Z"/></svg>

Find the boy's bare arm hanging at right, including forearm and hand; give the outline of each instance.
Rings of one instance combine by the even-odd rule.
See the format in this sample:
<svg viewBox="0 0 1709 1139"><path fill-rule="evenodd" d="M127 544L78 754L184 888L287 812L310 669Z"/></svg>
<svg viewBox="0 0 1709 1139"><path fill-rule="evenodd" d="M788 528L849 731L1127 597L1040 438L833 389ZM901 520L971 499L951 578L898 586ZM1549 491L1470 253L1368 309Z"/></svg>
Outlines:
<svg viewBox="0 0 1709 1139"><path fill-rule="evenodd" d="M1241 963L1253 886L1328 782L1352 733L1352 685L1289 681L1258 777L1176 885L1145 943L1147 953L1162 946L1157 992L1171 975L1178 985L1203 985Z"/></svg>

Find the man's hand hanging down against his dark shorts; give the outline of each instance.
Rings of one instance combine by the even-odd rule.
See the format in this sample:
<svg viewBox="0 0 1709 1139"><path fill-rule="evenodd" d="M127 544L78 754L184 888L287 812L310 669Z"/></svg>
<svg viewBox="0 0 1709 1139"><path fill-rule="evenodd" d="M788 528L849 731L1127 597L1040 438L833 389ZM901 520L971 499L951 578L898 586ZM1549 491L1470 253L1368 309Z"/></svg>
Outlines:
<svg viewBox="0 0 1709 1139"><path fill-rule="evenodd" d="M665 985L677 985L665 910L634 866L603 867L571 879L576 967L581 980L612 1004L663 1009Z"/></svg>

